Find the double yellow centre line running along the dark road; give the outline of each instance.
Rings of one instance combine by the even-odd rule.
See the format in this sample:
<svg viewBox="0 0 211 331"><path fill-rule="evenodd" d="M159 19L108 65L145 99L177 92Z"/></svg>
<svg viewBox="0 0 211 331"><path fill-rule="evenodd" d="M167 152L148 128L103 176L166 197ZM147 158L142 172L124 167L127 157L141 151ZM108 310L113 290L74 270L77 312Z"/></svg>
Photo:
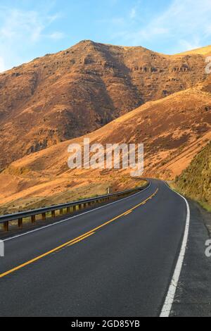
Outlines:
<svg viewBox="0 0 211 331"><path fill-rule="evenodd" d="M25 266L29 266L30 264L40 260L41 258L44 258L45 256L48 256L52 253L55 253L56 251L59 251L60 249L63 249L65 246L72 246L72 245L75 245L77 244L78 242L82 242L82 240L90 237L91 235L94 235L94 233L101 229L101 227L104 227L112 222L114 222L115 220L117 220L118 218L121 218L122 216L127 216L129 213L132 213L132 211L134 211L134 209L138 208L139 206L143 206L143 204L146 204L146 202L150 199L153 199L153 196L155 196L156 194L158 193L158 189L156 189L155 193L153 193L151 196L148 197L148 199L146 199L145 201L141 202L141 204L137 204L136 206L134 206L133 208L129 209L128 211L125 211L124 213L122 213L121 215L113 218L112 220L108 220L108 222L106 223L103 223L102 225L98 226L98 227L95 227L93 230L89 231L89 232L86 232L84 233L84 235L81 235L75 239L72 239L70 240L69 242L65 242L65 244L62 244L60 246L57 246L55 249L51 249L51 251L47 251L46 253L44 254L41 254L39 256L37 256L36 258L32 258L32 260L30 261L27 261L23 264L20 264L20 266L17 266L11 270L8 270L6 271L5 273L1 273L0 274L0 278L3 278L11 273L14 273L15 271L17 270L20 270L21 268L24 268Z"/></svg>

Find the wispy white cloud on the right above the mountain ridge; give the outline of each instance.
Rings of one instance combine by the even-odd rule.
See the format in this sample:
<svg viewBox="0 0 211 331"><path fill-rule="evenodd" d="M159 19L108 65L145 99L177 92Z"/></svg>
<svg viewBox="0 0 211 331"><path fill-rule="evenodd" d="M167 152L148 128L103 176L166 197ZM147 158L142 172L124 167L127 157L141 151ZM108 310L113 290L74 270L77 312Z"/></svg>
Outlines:
<svg viewBox="0 0 211 331"><path fill-rule="evenodd" d="M210 0L172 0L169 6L157 16L149 19L140 28L125 26L124 31L116 31L115 38L122 37L125 43L133 45L166 42L174 44L172 52L188 50L191 47L206 46L211 37ZM138 6L130 17L141 16Z"/></svg>

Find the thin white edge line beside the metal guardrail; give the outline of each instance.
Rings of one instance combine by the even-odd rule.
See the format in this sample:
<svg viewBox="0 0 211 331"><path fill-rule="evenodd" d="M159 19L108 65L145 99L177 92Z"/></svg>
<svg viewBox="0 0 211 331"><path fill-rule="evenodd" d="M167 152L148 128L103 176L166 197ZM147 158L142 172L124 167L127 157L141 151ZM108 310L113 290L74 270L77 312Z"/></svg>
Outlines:
<svg viewBox="0 0 211 331"><path fill-rule="evenodd" d="M109 204L106 204L106 205L103 205L103 206L100 206L100 207L97 207L97 208L94 208L94 209L91 209L91 211L85 211L84 213L79 213L78 215L75 215L75 216L72 216L70 218L65 218L65 220L59 220L58 222L55 222L55 223L52 223L52 224L49 224L49 225L45 225L43 227L38 227L37 229L34 229L34 230L31 230L31 231L27 231L27 232L24 232L22 233L21 235L17 235L17 236L14 236L14 237L9 237L9 238L6 238L6 239L1 239L1 242L8 242L9 240L12 240L12 239L16 239L16 238L19 238L19 237L23 237L25 235L30 235L31 233L33 232L37 232L37 231L41 231L41 230L44 230L46 229L47 227L51 227L51 226L54 226L54 225L58 225L60 223L64 223L64 222L67 222L68 220L71 220L73 218L77 218L79 216L82 216L82 215L85 215L87 213L91 213L93 211L97 211L98 209L101 209L101 208L105 208L107 206L110 206L112 204L117 204L117 202L120 202L120 201L123 201L123 200L126 200L126 199L129 199L131 198L132 196L136 196L137 194L141 194L141 192L145 191L146 189L149 189L151 187L151 181L150 181L150 185L148 185L148 187L146 187L145 189L142 189L140 192L137 192L136 194L133 194L131 196L127 196L126 198L123 198L123 199L120 199L120 200L117 200L117 201L113 201L113 202L110 202Z"/></svg>

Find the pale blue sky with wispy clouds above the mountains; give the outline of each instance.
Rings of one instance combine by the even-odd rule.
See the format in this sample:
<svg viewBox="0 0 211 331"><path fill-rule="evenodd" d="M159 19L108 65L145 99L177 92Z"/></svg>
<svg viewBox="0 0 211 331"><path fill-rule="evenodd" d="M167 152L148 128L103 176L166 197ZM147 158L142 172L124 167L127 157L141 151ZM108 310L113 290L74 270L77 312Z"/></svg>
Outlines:
<svg viewBox="0 0 211 331"><path fill-rule="evenodd" d="M210 0L0 0L0 71L82 39L165 54L211 44Z"/></svg>

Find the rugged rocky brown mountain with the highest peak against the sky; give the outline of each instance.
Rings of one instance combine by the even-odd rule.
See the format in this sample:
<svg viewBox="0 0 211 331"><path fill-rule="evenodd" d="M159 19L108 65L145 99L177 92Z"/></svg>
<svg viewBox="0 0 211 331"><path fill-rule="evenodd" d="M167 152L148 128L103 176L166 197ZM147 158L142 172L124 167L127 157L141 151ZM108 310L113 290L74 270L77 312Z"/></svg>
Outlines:
<svg viewBox="0 0 211 331"><path fill-rule="evenodd" d="M204 53L167 56L83 41L1 73L0 170L203 82Z"/></svg>

